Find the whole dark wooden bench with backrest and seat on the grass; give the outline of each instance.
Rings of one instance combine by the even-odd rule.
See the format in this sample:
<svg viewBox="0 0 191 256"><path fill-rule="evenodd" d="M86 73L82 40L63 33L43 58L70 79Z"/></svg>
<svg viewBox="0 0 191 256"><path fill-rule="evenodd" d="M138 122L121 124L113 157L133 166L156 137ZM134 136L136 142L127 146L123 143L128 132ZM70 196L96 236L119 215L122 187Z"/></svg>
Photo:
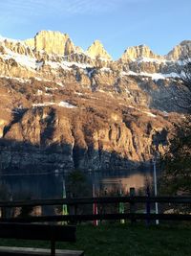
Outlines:
<svg viewBox="0 0 191 256"><path fill-rule="evenodd" d="M75 242L76 227L72 225L0 223L0 238L51 241L50 249L0 246L0 255L63 255L82 256L83 251L55 250L55 242Z"/></svg>

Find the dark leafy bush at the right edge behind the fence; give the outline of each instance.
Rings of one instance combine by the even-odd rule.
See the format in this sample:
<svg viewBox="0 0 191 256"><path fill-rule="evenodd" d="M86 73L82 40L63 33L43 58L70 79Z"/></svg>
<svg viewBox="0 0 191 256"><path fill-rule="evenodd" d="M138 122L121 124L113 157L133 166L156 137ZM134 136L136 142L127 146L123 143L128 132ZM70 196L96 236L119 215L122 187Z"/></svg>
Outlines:
<svg viewBox="0 0 191 256"><path fill-rule="evenodd" d="M183 125L182 125L183 124ZM167 195L191 195L191 126L189 120L175 128L162 158L161 191Z"/></svg>

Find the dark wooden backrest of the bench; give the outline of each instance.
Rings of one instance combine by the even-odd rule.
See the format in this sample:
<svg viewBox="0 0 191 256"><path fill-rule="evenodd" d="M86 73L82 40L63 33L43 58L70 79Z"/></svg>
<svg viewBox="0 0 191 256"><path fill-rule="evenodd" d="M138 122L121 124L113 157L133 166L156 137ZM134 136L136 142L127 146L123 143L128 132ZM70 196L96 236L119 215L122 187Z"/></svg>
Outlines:
<svg viewBox="0 0 191 256"><path fill-rule="evenodd" d="M0 223L0 238L75 242L75 226Z"/></svg>

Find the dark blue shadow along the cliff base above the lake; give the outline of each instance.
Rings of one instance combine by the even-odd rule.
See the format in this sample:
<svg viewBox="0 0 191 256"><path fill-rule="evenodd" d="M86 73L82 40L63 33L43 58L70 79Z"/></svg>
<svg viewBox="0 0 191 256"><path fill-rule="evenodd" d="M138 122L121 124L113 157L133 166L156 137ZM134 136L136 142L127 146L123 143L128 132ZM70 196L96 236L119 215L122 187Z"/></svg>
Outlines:
<svg viewBox="0 0 191 256"><path fill-rule="evenodd" d="M70 144L40 146L0 139L0 170L3 173L131 170L148 164L123 158L115 151L96 151L93 147L86 150Z"/></svg>

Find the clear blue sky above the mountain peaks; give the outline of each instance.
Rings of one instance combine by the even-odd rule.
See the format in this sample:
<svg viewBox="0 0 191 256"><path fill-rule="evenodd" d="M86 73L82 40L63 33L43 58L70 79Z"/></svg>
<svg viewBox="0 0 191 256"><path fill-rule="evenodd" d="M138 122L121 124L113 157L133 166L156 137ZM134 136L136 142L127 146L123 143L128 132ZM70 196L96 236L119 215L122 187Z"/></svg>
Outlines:
<svg viewBox="0 0 191 256"><path fill-rule="evenodd" d="M83 49L99 39L114 58L138 44L166 54L191 39L190 12L190 0L0 0L0 35L53 30Z"/></svg>

